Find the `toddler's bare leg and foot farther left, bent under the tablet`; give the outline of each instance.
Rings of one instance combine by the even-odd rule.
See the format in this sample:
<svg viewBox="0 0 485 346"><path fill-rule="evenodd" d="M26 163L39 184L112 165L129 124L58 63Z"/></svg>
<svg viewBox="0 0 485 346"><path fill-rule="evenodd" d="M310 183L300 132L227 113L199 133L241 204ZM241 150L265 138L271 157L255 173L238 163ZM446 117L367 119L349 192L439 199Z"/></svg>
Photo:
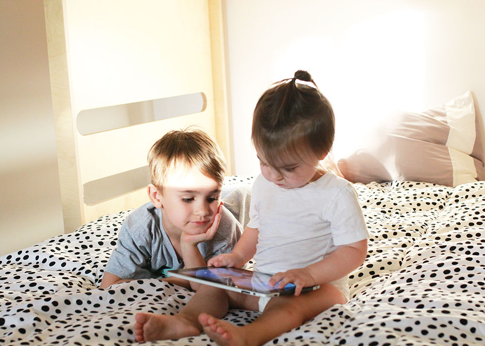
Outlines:
<svg viewBox="0 0 485 346"><path fill-rule="evenodd" d="M228 298L225 290L200 285L194 297L177 315L136 314L135 339L137 342L146 342L198 335L202 331L198 321L201 313L222 318L227 310Z"/></svg>

